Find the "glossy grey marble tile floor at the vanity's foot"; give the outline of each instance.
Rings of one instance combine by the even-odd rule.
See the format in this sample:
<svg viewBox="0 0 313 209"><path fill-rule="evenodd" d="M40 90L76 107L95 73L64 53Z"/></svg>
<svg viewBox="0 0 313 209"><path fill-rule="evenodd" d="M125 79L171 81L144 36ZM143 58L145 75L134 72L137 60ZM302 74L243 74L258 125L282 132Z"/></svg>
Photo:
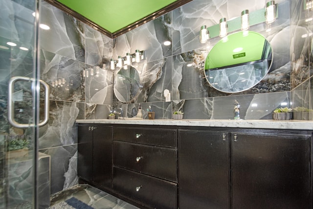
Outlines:
<svg viewBox="0 0 313 209"><path fill-rule="evenodd" d="M88 204L94 209L138 209L107 192L89 185L76 185L51 196L51 206L71 197Z"/></svg>

